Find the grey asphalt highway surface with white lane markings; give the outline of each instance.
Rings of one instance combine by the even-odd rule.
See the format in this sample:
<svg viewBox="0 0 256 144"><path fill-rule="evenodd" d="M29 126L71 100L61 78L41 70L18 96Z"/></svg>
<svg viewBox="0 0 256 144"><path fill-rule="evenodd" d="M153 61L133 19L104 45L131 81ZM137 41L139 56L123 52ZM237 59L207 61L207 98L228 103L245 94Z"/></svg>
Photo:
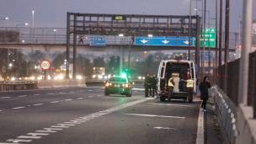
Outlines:
<svg viewBox="0 0 256 144"><path fill-rule="evenodd" d="M195 143L200 99L104 96L104 87L0 92L0 144Z"/></svg>

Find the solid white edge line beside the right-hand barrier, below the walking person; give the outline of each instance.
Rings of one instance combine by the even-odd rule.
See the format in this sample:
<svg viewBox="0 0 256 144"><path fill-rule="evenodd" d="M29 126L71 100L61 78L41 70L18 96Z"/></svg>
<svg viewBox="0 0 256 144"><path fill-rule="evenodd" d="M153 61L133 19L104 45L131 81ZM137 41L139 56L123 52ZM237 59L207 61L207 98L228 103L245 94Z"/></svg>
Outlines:
<svg viewBox="0 0 256 144"><path fill-rule="evenodd" d="M205 130L204 130L204 112L200 110L198 123L197 123L197 136L196 136L196 143L197 144L204 144L205 142Z"/></svg>

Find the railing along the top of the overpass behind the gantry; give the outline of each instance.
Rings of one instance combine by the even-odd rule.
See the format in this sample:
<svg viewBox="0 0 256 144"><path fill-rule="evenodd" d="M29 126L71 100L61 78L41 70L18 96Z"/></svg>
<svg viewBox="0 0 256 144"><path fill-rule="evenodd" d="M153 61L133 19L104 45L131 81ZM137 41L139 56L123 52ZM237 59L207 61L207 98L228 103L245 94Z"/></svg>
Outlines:
<svg viewBox="0 0 256 144"><path fill-rule="evenodd" d="M88 44L90 37L105 37L107 45L128 45L131 38L129 36L118 35L84 35L83 43ZM229 47L234 48L238 45L237 33L230 33ZM51 43L66 44L66 28L28 28L28 27L0 27L0 42L18 43ZM77 35L77 43L79 35ZM73 36L70 36L73 43ZM224 47L224 40L222 41Z"/></svg>

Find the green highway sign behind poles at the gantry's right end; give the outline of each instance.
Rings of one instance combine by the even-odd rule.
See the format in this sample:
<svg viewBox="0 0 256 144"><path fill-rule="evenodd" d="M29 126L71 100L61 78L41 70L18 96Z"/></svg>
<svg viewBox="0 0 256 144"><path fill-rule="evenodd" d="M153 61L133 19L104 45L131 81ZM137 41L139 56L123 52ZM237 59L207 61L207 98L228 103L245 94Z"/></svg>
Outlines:
<svg viewBox="0 0 256 144"><path fill-rule="evenodd" d="M200 46L204 46L204 29L201 29L200 31L201 40L200 40ZM215 47L215 41L216 41L216 29L215 28L205 28L205 47L209 46L209 40L210 40L210 46ZM194 37L194 45L195 45L195 37Z"/></svg>

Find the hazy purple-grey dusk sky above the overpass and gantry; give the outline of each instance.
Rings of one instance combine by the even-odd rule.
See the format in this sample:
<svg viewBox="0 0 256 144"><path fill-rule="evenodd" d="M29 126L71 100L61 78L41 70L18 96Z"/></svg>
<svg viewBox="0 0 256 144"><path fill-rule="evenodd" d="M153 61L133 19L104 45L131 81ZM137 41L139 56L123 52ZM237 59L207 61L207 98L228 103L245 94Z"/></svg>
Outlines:
<svg viewBox="0 0 256 144"><path fill-rule="evenodd" d="M206 10L211 12L211 19L216 17L215 3L216 0L206 0ZM225 3L223 0L223 25ZM29 23L28 27L32 27L32 10L35 11L35 27L43 28L66 28L67 12L189 15L189 0L2 0L0 5L0 27L16 27L17 24L24 23ZM198 2L199 9L201 5ZM253 3L253 8L253 13L256 13L256 3ZM192 1L192 15L195 15L195 1ZM239 16L242 19L242 15L243 0L230 0L231 32L238 32ZM9 19L3 20L5 17ZM256 19L256 14L253 19ZM215 24L215 20L211 20L211 24Z"/></svg>

